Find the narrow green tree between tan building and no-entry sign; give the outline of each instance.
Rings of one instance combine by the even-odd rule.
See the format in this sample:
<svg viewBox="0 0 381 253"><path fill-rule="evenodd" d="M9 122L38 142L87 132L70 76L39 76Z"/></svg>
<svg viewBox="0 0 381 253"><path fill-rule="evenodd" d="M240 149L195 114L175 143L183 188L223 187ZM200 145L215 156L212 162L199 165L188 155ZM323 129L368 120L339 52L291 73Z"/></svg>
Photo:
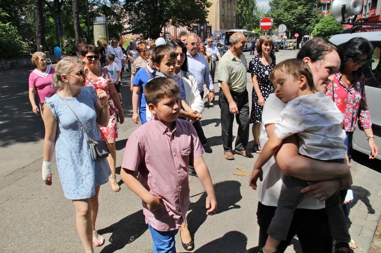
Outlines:
<svg viewBox="0 0 381 253"><path fill-rule="evenodd" d="M237 15L239 24L238 28L251 31L254 29L255 24L258 24L258 16L255 12L258 9L255 0L238 0L237 1Z"/></svg>

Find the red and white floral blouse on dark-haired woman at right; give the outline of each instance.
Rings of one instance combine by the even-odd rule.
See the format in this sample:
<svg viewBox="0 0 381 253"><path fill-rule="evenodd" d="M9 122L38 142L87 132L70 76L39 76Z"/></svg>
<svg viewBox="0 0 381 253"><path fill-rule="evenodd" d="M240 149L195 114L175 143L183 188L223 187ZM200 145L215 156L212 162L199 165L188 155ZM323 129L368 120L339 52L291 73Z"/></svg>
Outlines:
<svg viewBox="0 0 381 253"><path fill-rule="evenodd" d="M341 81L341 73L337 72L333 82L327 86L326 96L333 101L344 116L344 130L354 132L357 120L361 127L368 129L372 127L368 105L365 97L365 76L361 74L355 77L352 87ZM332 87L333 86L333 87Z"/></svg>

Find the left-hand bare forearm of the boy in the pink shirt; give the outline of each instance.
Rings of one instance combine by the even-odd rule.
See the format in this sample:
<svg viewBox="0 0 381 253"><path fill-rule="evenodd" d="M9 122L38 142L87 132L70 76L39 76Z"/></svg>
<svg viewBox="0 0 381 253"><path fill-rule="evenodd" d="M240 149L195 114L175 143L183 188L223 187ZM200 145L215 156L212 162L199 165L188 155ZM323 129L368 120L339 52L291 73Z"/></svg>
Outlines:
<svg viewBox="0 0 381 253"><path fill-rule="evenodd" d="M139 182L138 178L135 176L134 171L122 168L120 170L120 178L128 186L131 191L138 195L146 204L150 211L155 211L163 208L161 203L162 198L153 196L144 186Z"/></svg>

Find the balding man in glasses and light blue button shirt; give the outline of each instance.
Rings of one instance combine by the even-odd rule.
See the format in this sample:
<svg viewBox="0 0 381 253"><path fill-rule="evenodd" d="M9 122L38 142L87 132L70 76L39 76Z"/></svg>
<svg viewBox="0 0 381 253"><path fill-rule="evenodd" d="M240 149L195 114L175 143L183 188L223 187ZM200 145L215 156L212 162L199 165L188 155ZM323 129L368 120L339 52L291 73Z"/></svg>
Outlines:
<svg viewBox="0 0 381 253"><path fill-rule="evenodd" d="M198 52L200 37L196 33L189 33L186 37L186 57L188 60L188 70L197 80L201 97L204 96L204 83L209 90L209 102L214 101L214 85L210 75L208 61L205 56Z"/></svg>

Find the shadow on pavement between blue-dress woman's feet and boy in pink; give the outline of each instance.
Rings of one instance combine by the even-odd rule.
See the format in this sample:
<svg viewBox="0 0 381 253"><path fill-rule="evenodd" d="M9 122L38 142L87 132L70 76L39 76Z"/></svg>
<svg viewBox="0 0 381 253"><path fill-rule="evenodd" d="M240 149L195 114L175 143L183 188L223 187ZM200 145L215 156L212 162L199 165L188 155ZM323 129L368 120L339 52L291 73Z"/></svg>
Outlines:
<svg viewBox="0 0 381 253"><path fill-rule="evenodd" d="M112 233L109 242L101 252L114 252L122 249L126 244L132 243L138 239L148 229L145 224L143 210L139 210L113 225L98 230L100 235Z"/></svg>

